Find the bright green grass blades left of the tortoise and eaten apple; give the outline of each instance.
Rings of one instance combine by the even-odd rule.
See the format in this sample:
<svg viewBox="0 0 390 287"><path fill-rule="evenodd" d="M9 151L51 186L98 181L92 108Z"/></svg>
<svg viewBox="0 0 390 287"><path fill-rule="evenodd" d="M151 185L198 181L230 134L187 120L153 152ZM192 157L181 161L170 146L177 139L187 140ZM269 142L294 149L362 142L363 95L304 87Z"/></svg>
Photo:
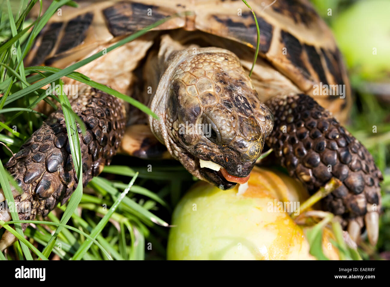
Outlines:
<svg viewBox="0 0 390 287"><path fill-rule="evenodd" d="M58 98L54 96L52 99L49 99L46 98L44 90L39 89L40 87L53 81L62 85L60 78L67 76L117 96L147 114L154 117L156 115L148 107L129 96L96 83L85 75L74 72L77 68L103 55L103 52L96 53L64 70L42 66L24 67L23 58L27 55L35 37L47 23L53 12L66 3L74 5L73 2L67 0L54 1L38 20L27 23L25 22L25 16L36 2L37 0L33 0L30 2L30 5L27 5L27 1L21 1L21 5L18 6L21 8L15 9L16 5L11 7L11 3L5 1L7 9L2 11L0 22L0 39L3 40L0 46L0 93L2 93L0 101L2 123L0 130L2 134L0 141L8 144L11 152L15 153L23 141L41 125L45 118L43 114L34 111L32 108L41 100L46 100L55 107L53 100L57 100L64 111L71 153L73 158L76 159L74 160L76 173L79 182L82 182L79 138L77 134L71 131L72 129L76 130L76 125L85 131L83 123L72 111L69 100L65 95L59 94ZM14 2L12 3L15 4ZM136 39L167 20L168 18L160 20L122 39L115 45L110 46L106 52L108 53ZM33 27L32 30L31 27ZM26 76L32 73L35 73L35 75L26 78ZM34 84L32 84L33 82ZM33 113L39 116L35 116ZM10 125L11 127L16 127L16 130L23 132L13 132ZM11 152L2 146L2 162L6 162L11 157ZM115 173L115 166L111 167L111 170ZM141 173L142 176L140 177L148 178L146 173L142 171ZM179 173L183 173L183 169ZM173 174L170 173L169 175L172 176ZM9 226L9 223L3 223L4 228L0 232L2 234L4 229L9 230L20 239L19 243L14 244L14 254L12 251L11 254L7 254L8 258L11 259L15 256L15 259L25 258L31 260L33 257L47 259L57 255L62 259L144 259L144 240L147 237L151 237L151 241L156 246L156 251L160 251L158 254L161 256L160 258L163 258L165 256L163 245L159 242L160 239L157 239L157 236L151 235L150 229L155 228L155 226L168 226L168 223L160 219L152 211L160 208L172 210L172 207L168 206L155 192L139 185L133 185L137 175L138 172L136 171L131 173L132 179L129 184L126 184L126 180L130 180L130 178L126 179L126 175L122 176L122 181L108 181L103 177L96 177L84 191L82 185L78 185L71 199L67 202L66 208L59 207L58 210L62 210L62 214L58 213L58 210L56 210L56 216L53 215L53 212L49 214L48 218L51 221L58 222L33 221L37 226L37 230L28 227L25 234L33 240L32 242L35 241L40 244L39 250L42 250L42 253L23 237L20 223L28 223L28 221L18 220L17 213L13 212L13 221L11 223L15 224L16 231ZM163 176L164 179L167 178L167 174L159 173L154 173L152 177L159 175ZM3 165L0 164L0 183L4 189L7 201L12 202L13 198L8 184L9 180L11 180L10 176L4 170ZM123 192L121 193L122 190ZM87 194L86 191L92 194ZM106 208L110 206L110 209ZM83 210L82 217L77 215L76 209L78 207ZM99 219L100 215L103 216L102 219ZM61 219L58 220L58 217ZM108 224L109 220L115 221L117 225ZM71 225L66 225L66 223ZM161 233L161 230L158 230L158 232ZM65 252L62 246L65 247ZM1 256L1 258L4 259L5 257Z"/></svg>

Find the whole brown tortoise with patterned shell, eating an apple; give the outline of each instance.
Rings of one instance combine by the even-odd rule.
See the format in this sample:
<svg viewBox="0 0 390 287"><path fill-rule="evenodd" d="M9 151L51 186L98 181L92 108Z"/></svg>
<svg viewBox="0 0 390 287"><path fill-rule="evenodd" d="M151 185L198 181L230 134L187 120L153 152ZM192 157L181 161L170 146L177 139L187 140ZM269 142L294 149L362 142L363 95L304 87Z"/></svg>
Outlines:
<svg viewBox="0 0 390 287"><path fill-rule="evenodd" d="M365 228L376 244L383 177L342 126L352 103L346 68L330 29L308 1L251 1L260 29L251 77L257 30L242 1L79 4L51 18L26 65L65 68L157 20L192 12L77 70L148 105L158 118L65 79L80 87L70 102L87 127L85 134L78 128L83 185L119 150L144 159L171 156L200 180L229 189L248 180L266 146L310 193L338 178L342 185L322 200L323 209L339 216L355 241ZM12 188L15 201L32 205L20 219L46 216L68 200L78 182L60 109L6 167L23 191ZM1 218L10 219L5 212ZM1 249L13 241L6 232Z"/></svg>

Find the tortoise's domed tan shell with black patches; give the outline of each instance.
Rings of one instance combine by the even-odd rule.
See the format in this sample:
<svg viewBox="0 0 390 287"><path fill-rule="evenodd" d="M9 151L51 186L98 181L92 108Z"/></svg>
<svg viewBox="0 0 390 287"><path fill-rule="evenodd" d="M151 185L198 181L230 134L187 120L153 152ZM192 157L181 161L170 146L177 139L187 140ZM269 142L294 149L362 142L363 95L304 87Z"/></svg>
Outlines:
<svg viewBox="0 0 390 287"><path fill-rule="evenodd" d="M255 49L254 17L241 0L184 3L179 0L82 1L77 9L63 7L37 37L26 64L44 63L64 68L96 52L98 45L109 46L157 20L184 11L193 14L172 18L153 30L199 30L230 39L242 48L245 45ZM250 5L259 23L259 56L344 122L351 107L346 68L330 29L310 3L253 0ZM325 85L342 85L338 87L344 89L344 95L321 93L319 89Z"/></svg>

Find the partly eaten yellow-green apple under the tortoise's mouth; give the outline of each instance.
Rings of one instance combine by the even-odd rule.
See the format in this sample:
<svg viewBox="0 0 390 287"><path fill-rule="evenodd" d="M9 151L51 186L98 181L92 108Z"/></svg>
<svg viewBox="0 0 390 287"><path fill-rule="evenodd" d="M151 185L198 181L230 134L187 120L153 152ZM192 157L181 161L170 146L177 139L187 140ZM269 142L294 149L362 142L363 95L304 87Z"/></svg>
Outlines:
<svg viewBox="0 0 390 287"><path fill-rule="evenodd" d="M248 189L220 190L198 182L174 210L168 260L312 260L302 228L286 212L269 212L274 200L308 198L299 182L255 167Z"/></svg>

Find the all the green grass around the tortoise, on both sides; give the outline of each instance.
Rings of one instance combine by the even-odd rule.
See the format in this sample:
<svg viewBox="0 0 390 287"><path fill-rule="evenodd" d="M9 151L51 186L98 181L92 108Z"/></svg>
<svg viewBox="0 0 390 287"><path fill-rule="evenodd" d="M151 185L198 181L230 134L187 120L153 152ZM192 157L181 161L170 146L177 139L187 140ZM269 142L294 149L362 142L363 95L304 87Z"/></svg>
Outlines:
<svg viewBox="0 0 390 287"><path fill-rule="evenodd" d="M3 96L0 100L0 141L6 144L12 153L19 150L45 119L43 114L33 110L41 100L50 105L60 103L68 130L71 130L72 125L75 129L74 125L77 123L82 127L66 96L60 94L58 97L49 98L44 90L40 89L53 81L60 83L59 79L63 76L113 94L145 113L152 114L149 108L132 98L74 72L100 57L102 52L64 70L43 66L25 67L22 60L51 14L64 4L74 5L68 0L54 1L37 21L26 20L26 15L36 2L38 1L33 0L28 5L28 1L21 0L4 1L2 4L0 93ZM107 52L146 33L148 29L122 39L108 48ZM36 81L39 82L35 83ZM364 259L378 259L390 251L390 119L386 118L390 114L390 107L379 103L373 95L360 93L358 78L352 84L356 102L348 128L372 152L385 177L382 184L384 213L381 216L378 245L373 249L363 244L359 249ZM372 122L378 123L376 134L372 133ZM14 127L17 132L13 132ZM78 159L74 161L77 171L80 169L80 145L77 136L68 134L73 158ZM13 200L8 184L10 176L5 172L3 164L12 156L11 152L1 146L0 184L9 202ZM147 171L148 164L152 165L153 172ZM80 172L78 176L79 181L82 180ZM36 228L28 226L24 232L29 240L21 235L21 228L17 227L14 231L11 226L5 224L0 235L5 229L10 230L20 242L16 242L7 253L0 253L0 259L165 259L169 231L167 226L172 211L193 182L193 176L176 161L115 157L112 165L105 167L103 173L93 178L87 187L82 188L79 185L66 205L58 205L48 217L38 217L38 220L32 221ZM16 220L16 226L22 223L17 220L17 214L12 214L12 218ZM313 242L315 239L313 237Z"/></svg>

